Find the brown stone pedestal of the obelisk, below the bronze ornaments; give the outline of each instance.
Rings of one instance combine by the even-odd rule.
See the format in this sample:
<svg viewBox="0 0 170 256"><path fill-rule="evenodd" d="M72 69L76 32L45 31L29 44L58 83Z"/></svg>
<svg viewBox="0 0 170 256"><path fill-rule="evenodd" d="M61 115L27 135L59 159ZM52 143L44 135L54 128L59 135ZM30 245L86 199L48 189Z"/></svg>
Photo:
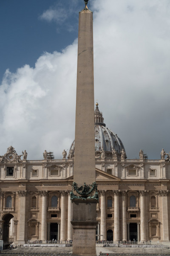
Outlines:
<svg viewBox="0 0 170 256"><path fill-rule="evenodd" d="M72 256L96 256L96 200L73 202L73 254ZM81 253L80 253L81 252Z"/></svg>

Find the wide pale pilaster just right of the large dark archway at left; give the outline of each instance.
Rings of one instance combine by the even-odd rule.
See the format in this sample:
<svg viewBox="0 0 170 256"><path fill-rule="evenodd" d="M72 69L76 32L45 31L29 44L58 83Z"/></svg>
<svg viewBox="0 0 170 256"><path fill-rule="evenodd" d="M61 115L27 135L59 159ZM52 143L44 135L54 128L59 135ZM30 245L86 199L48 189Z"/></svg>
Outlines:
<svg viewBox="0 0 170 256"><path fill-rule="evenodd" d="M19 220L19 239L18 244L25 244L25 228L26 228L26 190L18 191L20 196L20 220Z"/></svg>

